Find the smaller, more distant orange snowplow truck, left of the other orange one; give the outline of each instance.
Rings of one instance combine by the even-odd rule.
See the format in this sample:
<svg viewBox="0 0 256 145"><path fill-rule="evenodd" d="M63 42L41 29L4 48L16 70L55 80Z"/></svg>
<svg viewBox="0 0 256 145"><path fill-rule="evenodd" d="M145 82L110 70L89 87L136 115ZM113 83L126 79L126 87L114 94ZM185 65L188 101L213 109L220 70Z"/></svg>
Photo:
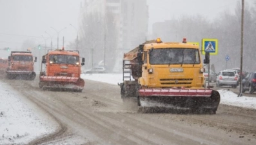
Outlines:
<svg viewBox="0 0 256 145"><path fill-rule="evenodd" d="M8 68L6 75L8 79L21 77L22 79L34 80L34 62L37 57L33 59L32 52L11 52L8 57Z"/></svg>

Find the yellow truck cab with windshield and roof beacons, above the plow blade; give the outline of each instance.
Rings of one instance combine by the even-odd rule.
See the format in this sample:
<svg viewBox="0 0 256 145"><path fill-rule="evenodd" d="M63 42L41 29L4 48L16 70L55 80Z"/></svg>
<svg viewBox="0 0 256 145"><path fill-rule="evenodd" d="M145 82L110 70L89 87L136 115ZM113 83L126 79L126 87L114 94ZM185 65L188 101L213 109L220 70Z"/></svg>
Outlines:
<svg viewBox="0 0 256 145"><path fill-rule="evenodd" d="M199 46L193 43L144 44L141 86L150 88L203 88L204 68Z"/></svg>

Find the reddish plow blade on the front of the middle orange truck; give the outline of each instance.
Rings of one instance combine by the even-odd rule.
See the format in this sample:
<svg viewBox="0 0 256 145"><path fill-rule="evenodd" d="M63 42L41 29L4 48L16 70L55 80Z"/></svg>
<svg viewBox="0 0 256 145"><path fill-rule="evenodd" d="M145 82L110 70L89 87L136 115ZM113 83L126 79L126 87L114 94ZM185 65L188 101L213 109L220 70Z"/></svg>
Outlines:
<svg viewBox="0 0 256 145"><path fill-rule="evenodd" d="M72 89L77 92L82 92L84 88L84 80L79 77L41 76L39 88L43 88L44 90L47 88Z"/></svg>

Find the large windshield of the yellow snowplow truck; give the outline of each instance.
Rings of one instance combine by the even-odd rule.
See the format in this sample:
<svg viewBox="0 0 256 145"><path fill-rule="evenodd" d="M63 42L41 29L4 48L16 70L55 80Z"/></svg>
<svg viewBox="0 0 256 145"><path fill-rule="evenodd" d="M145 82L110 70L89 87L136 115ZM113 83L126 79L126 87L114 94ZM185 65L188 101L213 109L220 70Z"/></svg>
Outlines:
<svg viewBox="0 0 256 145"><path fill-rule="evenodd" d="M199 64L199 51L188 48L162 48L150 52L150 64Z"/></svg>

